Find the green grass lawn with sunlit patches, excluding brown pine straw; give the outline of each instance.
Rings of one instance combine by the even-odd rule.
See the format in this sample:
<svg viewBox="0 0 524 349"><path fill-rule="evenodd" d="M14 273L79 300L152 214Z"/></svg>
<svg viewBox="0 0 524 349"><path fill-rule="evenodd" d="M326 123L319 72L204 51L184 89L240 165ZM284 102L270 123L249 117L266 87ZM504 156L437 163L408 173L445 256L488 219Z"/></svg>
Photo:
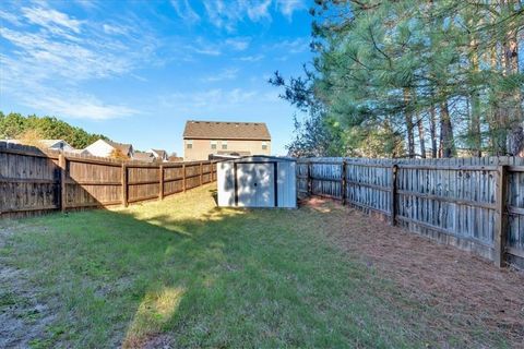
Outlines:
<svg viewBox="0 0 524 349"><path fill-rule="evenodd" d="M464 345L327 239L329 209L217 208L212 190L0 222L0 347Z"/></svg>

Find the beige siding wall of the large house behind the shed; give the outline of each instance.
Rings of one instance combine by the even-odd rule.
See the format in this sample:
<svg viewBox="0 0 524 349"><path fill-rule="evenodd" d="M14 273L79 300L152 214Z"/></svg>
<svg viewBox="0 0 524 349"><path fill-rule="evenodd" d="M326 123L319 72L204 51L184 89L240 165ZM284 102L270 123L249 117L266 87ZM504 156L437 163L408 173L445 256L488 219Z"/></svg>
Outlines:
<svg viewBox="0 0 524 349"><path fill-rule="evenodd" d="M192 148L188 148L188 143L192 142ZM183 159L186 161L206 160L210 154L218 152L249 152L250 155L270 155L271 141L238 141L238 140L216 140L216 149L211 147L214 140L183 140ZM227 142L227 149L223 145ZM267 144L266 149L262 149L262 143Z"/></svg>

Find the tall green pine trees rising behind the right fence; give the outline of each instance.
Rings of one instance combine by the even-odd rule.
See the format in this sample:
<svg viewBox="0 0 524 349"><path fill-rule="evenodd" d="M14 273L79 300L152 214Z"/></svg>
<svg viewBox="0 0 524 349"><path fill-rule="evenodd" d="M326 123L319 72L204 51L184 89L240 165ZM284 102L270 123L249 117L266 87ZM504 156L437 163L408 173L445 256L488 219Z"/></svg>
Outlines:
<svg viewBox="0 0 524 349"><path fill-rule="evenodd" d="M341 151L385 132L402 145L389 156L523 155L521 0L317 0L311 13L309 98L342 128Z"/></svg>

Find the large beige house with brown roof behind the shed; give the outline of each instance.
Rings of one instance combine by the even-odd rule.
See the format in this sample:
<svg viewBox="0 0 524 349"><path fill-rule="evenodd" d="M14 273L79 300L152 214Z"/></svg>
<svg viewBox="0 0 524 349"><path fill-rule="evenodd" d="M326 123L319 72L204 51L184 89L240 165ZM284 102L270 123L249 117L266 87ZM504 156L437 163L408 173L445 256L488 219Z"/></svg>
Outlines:
<svg viewBox="0 0 524 349"><path fill-rule="evenodd" d="M270 155L271 135L264 122L186 122L183 159L206 160L213 155Z"/></svg>

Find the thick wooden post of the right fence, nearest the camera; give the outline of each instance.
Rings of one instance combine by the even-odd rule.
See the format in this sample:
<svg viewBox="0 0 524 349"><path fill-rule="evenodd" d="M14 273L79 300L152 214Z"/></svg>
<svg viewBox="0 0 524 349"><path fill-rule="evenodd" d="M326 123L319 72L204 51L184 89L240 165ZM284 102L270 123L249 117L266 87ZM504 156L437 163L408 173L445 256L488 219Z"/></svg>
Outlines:
<svg viewBox="0 0 524 349"><path fill-rule="evenodd" d="M505 265L505 236L508 230L507 213L507 192L508 192L508 166L499 165L497 168L496 185L496 216L495 216L495 265L503 267Z"/></svg>

